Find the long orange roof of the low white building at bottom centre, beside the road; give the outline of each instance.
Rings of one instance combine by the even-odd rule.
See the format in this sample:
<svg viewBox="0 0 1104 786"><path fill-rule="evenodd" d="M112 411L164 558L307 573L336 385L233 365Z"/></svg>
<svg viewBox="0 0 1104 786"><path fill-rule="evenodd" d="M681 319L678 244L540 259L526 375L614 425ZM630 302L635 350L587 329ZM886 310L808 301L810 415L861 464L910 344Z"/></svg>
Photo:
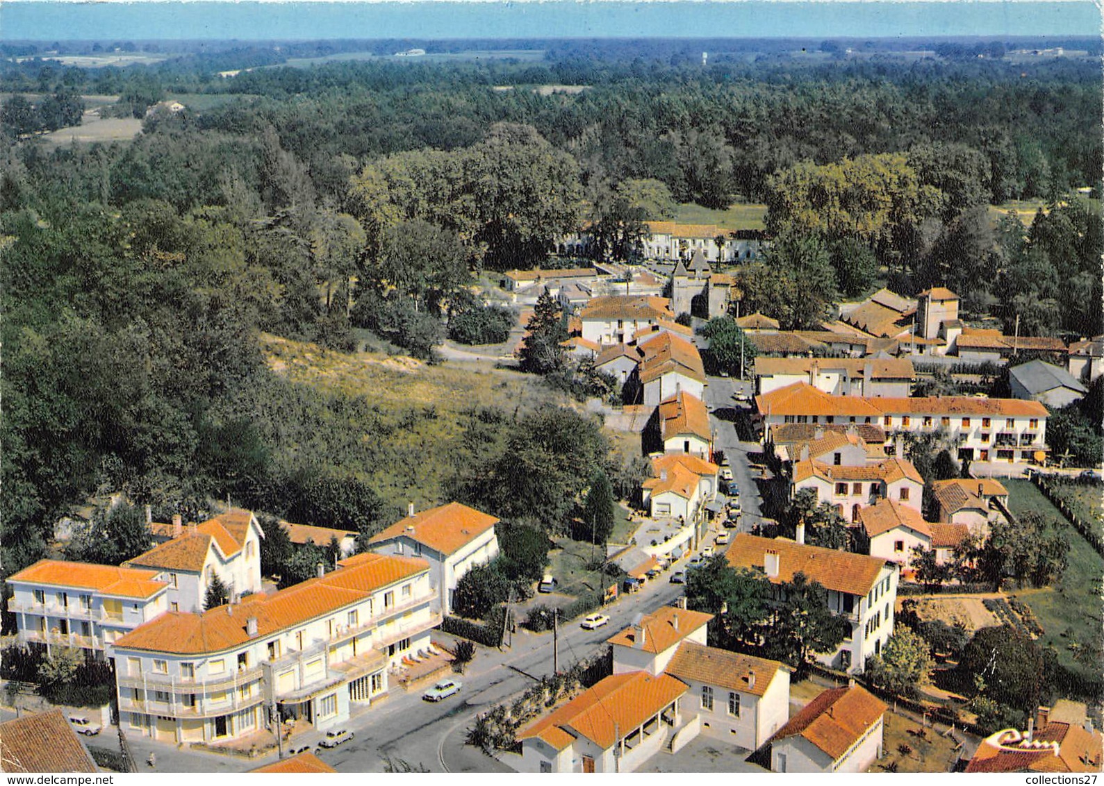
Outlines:
<svg viewBox="0 0 1104 786"><path fill-rule="evenodd" d="M629 671L606 677L563 707L552 711L517 734L519 741L539 737L563 751L576 737L585 737L603 751L649 718L662 712L688 690L668 675L652 677Z"/></svg>

